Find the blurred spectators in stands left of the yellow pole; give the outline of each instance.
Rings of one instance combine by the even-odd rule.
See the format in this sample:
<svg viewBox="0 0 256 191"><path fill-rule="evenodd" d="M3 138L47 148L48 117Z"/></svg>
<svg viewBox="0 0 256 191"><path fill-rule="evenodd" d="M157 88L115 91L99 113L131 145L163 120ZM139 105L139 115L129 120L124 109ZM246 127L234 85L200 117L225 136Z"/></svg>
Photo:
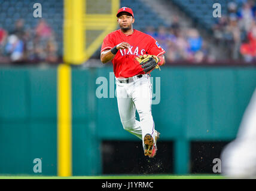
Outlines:
<svg viewBox="0 0 256 191"><path fill-rule="evenodd" d="M0 27L1 63L56 63L57 48L54 32L44 19L33 29L26 29L23 19L10 31Z"/></svg>

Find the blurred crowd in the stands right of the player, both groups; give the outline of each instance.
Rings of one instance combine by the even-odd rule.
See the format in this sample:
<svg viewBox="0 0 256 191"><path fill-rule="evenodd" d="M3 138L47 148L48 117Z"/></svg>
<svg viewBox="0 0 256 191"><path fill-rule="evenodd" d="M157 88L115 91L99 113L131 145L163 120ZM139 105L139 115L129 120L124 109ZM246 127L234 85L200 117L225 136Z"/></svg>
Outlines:
<svg viewBox="0 0 256 191"><path fill-rule="evenodd" d="M212 63L218 59L211 53L210 41L205 41L196 28L180 26L179 17L172 20L170 27L145 31L153 36L164 50L166 60L185 61L187 63ZM234 0L227 3L227 14L212 25L215 48L224 47L224 60L256 60L256 3L254 0Z"/></svg>

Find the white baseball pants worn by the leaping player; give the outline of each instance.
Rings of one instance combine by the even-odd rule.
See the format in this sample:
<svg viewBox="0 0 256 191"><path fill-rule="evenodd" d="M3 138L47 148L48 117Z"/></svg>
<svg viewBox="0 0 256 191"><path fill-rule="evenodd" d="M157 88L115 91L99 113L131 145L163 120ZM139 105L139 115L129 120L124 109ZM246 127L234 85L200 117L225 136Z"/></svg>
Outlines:
<svg viewBox="0 0 256 191"><path fill-rule="evenodd" d="M129 83L121 83L118 81L120 78L115 79L118 111L123 128L141 138L144 145L142 137L146 134L151 134L153 138L156 137L151 113L152 85L150 78L148 75L142 75L141 78L133 76L129 78L129 80L133 80ZM136 119L136 110L140 121Z"/></svg>

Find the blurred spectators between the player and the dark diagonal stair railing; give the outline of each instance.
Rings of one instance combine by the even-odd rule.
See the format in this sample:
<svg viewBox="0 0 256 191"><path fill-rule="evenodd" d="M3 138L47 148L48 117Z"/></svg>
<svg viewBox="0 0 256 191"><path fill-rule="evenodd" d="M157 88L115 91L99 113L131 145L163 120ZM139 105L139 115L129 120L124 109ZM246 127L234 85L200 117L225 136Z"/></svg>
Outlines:
<svg viewBox="0 0 256 191"><path fill-rule="evenodd" d="M184 28L179 17L173 17L170 27L160 26L157 30L150 26L145 33L153 36L166 51L166 61L186 61L201 63L213 61L208 44L203 41L196 28Z"/></svg>

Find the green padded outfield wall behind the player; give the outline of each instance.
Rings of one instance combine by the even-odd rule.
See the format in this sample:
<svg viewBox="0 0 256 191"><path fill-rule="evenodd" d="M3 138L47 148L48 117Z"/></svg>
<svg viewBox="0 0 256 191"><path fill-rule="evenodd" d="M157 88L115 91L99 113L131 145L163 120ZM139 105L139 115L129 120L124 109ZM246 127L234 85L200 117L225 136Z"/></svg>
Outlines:
<svg viewBox="0 0 256 191"><path fill-rule="evenodd" d="M174 171L185 174L190 141L236 136L256 68L166 66L151 80L156 129L174 142ZM137 140L121 126L114 89L112 67L72 68L73 175L101 173L101 140ZM33 171L35 158L41 173ZM0 68L0 174L57 174L56 67Z"/></svg>

